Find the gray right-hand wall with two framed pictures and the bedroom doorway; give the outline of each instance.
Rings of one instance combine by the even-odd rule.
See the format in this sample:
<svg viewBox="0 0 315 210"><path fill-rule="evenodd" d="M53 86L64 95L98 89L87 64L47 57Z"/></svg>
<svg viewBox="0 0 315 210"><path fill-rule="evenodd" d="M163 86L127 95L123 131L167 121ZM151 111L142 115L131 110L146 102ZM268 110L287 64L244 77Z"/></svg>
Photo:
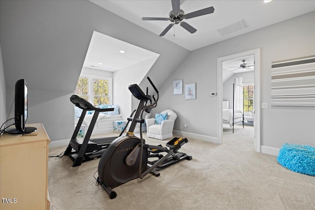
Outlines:
<svg viewBox="0 0 315 210"><path fill-rule="evenodd" d="M270 107L271 62L315 55L315 12L192 51L161 87L155 112L166 108L178 114L175 130L218 138L217 58L260 48L261 145L281 148L284 143L315 146L314 107ZM172 81L196 83L197 99L172 94ZM184 128L188 125L188 129Z"/></svg>

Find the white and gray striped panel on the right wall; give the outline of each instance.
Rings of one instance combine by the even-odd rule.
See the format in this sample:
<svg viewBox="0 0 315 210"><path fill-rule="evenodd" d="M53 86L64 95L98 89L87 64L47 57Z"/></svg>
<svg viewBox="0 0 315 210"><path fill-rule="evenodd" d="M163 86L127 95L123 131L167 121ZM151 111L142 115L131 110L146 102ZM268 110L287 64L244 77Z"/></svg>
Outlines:
<svg viewBox="0 0 315 210"><path fill-rule="evenodd" d="M315 106L315 56L272 62L271 105Z"/></svg>

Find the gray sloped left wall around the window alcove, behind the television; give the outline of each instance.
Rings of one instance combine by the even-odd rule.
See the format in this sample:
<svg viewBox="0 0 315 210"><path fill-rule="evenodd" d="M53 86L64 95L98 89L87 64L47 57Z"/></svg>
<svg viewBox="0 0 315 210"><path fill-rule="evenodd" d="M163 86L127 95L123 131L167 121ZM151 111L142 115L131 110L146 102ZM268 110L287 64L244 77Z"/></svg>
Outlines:
<svg viewBox="0 0 315 210"><path fill-rule="evenodd" d="M160 57L148 73L157 78L158 87L189 54L87 0L1 0L7 112L14 84L24 78L29 88L28 123L43 123L52 141L69 139L74 130L69 96L75 90L94 30L158 53ZM173 59L173 52L177 52L177 59Z"/></svg>

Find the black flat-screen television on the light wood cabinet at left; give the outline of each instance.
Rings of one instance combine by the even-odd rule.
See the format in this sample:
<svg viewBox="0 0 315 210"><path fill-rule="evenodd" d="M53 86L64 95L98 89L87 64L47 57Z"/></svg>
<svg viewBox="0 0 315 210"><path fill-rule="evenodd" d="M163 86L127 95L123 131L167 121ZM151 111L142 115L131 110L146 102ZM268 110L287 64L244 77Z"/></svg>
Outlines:
<svg viewBox="0 0 315 210"><path fill-rule="evenodd" d="M18 80L15 83L14 100L15 128L7 132L9 134L23 134L37 130L35 127L25 127L26 120L28 119L28 87L25 79Z"/></svg>

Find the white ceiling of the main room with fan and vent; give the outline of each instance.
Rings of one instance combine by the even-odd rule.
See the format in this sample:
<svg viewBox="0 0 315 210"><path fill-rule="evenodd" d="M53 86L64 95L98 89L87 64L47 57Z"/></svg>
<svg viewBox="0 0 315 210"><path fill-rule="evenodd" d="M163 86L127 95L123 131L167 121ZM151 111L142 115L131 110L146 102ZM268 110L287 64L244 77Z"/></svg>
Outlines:
<svg viewBox="0 0 315 210"><path fill-rule="evenodd" d="M91 0L95 4L159 35L170 21L142 21L142 17L168 18L171 0ZM175 25L163 37L190 51L257 30L315 10L315 0L181 0L185 14L213 6L214 13L185 20L197 31ZM243 20L248 28L221 36L218 29ZM174 36L175 28L175 36Z"/></svg>

